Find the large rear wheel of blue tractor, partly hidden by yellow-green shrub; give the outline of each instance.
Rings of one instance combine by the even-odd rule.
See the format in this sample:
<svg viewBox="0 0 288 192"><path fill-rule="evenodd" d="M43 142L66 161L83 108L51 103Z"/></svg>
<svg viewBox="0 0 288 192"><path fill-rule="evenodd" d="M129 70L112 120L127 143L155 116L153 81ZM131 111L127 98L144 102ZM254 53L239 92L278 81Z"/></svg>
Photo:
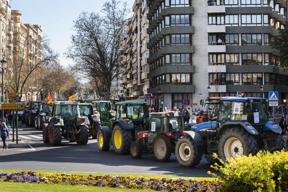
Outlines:
<svg viewBox="0 0 288 192"><path fill-rule="evenodd" d="M223 162L227 159L235 158L237 155L256 155L259 151L257 140L244 128L230 128L225 131L219 140L219 158Z"/></svg>

